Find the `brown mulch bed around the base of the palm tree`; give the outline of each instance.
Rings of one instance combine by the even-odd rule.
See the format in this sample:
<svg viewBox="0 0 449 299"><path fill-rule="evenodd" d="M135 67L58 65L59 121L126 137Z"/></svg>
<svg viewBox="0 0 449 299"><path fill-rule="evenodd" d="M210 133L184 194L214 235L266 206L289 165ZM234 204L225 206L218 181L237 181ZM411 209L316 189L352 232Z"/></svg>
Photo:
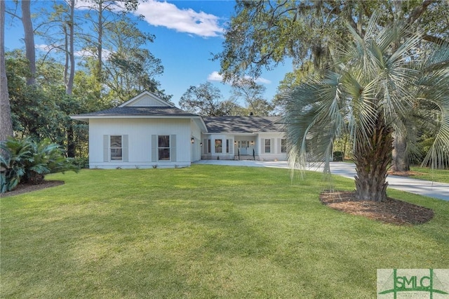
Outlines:
<svg viewBox="0 0 449 299"><path fill-rule="evenodd" d="M430 208L390 197L382 202L360 201L356 199L355 192L323 192L320 200L335 210L394 225L417 225L434 217L434 211Z"/></svg>

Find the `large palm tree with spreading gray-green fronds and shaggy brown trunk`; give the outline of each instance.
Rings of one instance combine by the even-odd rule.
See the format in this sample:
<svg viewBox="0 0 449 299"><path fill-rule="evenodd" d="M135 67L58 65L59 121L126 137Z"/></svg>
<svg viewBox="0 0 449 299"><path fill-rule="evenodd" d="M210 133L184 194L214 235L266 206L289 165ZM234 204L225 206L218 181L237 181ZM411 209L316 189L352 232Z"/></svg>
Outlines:
<svg viewBox="0 0 449 299"><path fill-rule="evenodd" d="M406 135L404 119L417 117L434 128L434 145L424 159L449 165L449 47L419 52L422 39L405 25L379 30L377 15L361 37L333 49L333 69L287 91L286 135L290 165L306 159L329 168L333 140L349 132L354 145L356 197L387 199L387 171L394 137Z"/></svg>

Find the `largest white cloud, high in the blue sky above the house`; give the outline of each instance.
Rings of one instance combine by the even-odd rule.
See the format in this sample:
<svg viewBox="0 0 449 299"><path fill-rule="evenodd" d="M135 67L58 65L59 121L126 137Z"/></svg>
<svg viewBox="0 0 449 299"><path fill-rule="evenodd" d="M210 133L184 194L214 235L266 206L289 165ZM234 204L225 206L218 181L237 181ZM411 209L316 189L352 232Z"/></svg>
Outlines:
<svg viewBox="0 0 449 299"><path fill-rule="evenodd" d="M180 9L175 4L149 0L139 4L136 15L144 15L149 25L163 26L203 37L220 36L224 29L219 25L216 15Z"/></svg>

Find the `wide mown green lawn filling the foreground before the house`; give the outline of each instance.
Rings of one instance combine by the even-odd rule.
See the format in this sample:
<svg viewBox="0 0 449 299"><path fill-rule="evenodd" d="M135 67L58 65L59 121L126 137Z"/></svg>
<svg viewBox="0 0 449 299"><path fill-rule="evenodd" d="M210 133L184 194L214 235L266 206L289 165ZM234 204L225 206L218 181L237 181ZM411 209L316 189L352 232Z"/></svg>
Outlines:
<svg viewBox="0 0 449 299"><path fill-rule="evenodd" d="M1 298L375 298L380 268L449 268L449 203L394 226L323 206L320 173L194 165L49 175L1 199ZM333 178L340 190L354 183Z"/></svg>

